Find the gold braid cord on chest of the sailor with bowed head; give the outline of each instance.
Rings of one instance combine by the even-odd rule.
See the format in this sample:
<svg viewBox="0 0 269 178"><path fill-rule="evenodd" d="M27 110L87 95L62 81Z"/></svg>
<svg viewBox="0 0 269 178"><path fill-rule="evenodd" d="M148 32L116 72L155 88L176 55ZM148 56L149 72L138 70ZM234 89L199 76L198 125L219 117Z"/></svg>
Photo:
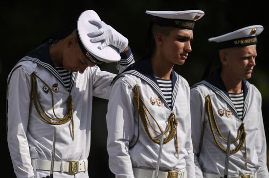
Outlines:
<svg viewBox="0 0 269 178"><path fill-rule="evenodd" d="M51 107L53 111L53 115L55 118L50 117L46 112L45 109L42 107L41 102L38 98L38 91L37 91L37 79L41 80L48 88L50 94L51 94ZM31 97L34 103L34 106L36 108L37 113L41 117L43 121L46 123L52 124L52 125L61 125L64 123L67 123L69 120L71 120L72 125L72 140L74 140L74 120L73 120L73 102L72 102L72 96L69 95L67 99L67 113L63 118L59 118L55 114L54 110L54 97L53 92L51 88L45 83L44 80L42 80L40 77L38 77L35 73L31 74ZM41 112L42 110L42 112ZM51 121L56 120L56 121Z"/></svg>

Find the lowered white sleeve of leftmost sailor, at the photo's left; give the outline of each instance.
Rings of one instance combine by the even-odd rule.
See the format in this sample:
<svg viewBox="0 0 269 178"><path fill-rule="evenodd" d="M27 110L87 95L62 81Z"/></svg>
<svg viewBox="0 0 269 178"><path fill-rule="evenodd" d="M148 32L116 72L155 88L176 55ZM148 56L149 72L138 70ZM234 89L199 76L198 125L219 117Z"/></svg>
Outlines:
<svg viewBox="0 0 269 178"><path fill-rule="evenodd" d="M7 141L17 178L34 178L26 137L30 104L30 76L16 69L7 90Z"/></svg>

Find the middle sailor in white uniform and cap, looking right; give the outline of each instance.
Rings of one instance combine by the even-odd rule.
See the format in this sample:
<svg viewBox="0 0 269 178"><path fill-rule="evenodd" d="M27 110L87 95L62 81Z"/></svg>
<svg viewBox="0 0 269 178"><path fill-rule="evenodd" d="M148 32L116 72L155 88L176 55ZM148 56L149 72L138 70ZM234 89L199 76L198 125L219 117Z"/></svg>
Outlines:
<svg viewBox="0 0 269 178"><path fill-rule="evenodd" d="M109 166L116 178L195 178L187 59L204 13L146 11L154 50L114 79L108 104ZM120 97L119 97L120 96Z"/></svg>

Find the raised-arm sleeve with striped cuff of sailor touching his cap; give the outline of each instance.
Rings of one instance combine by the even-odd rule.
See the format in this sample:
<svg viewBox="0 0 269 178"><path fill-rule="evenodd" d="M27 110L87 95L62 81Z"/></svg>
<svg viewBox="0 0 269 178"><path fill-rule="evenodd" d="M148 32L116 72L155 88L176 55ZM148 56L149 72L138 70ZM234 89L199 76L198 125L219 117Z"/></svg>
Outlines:
<svg viewBox="0 0 269 178"><path fill-rule="evenodd" d="M134 57L131 48L120 54L121 59L117 63L117 70L119 73L123 72L129 65L134 63ZM101 71L99 67L92 71L93 78L93 96L102 99L109 99L111 94L111 82L115 74L110 72Z"/></svg>

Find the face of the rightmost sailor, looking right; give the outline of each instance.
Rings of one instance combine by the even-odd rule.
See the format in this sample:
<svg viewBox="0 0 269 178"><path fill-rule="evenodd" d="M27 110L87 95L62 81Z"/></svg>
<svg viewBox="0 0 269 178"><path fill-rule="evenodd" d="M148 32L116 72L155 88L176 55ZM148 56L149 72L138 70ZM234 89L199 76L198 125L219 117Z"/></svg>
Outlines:
<svg viewBox="0 0 269 178"><path fill-rule="evenodd" d="M239 79L249 79L257 57L256 44L227 49L227 69Z"/></svg>

